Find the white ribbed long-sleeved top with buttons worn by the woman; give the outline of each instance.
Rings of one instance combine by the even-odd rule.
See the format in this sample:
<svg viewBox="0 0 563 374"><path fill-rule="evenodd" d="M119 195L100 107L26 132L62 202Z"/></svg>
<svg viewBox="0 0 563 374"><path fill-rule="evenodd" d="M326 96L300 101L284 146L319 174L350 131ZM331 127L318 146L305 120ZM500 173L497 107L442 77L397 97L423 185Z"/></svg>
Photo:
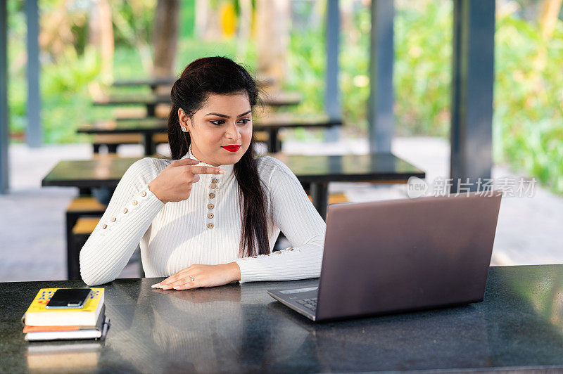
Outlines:
<svg viewBox="0 0 563 374"><path fill-rule="evenodd" d="M196 158L191 150L186 157ZM187 200L165 204L148 183L172 161L146 157L127 169L80 251L87 285L114 280L137 245L147 277L171 276L191 264L234 261L241 282L320 276L326 224L283 162L258 158L258 174L267 186L269 254L239 258L241 207L234 165L220 166L226 174L200 174ZM272 253L280 231L292 247Z"/></svg>

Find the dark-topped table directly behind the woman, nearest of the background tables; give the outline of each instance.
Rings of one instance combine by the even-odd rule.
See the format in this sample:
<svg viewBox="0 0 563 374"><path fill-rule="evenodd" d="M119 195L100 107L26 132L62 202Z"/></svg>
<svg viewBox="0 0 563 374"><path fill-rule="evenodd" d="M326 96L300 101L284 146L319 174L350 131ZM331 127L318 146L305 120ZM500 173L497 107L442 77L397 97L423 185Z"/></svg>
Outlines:
<svg viewBox="0 0 563 374"><path fill-rule="evenodd" d="M329 183L369 181L406 183L411 176L424 179L425 173L392 153L368 155L286 155L272 153L283 161L301 183L309 186L312 203L321 217L327 217ZM99 188L118 185L121 177L139 158L97 157L93 160L58 162L42 180L42 186Z"/></svg>

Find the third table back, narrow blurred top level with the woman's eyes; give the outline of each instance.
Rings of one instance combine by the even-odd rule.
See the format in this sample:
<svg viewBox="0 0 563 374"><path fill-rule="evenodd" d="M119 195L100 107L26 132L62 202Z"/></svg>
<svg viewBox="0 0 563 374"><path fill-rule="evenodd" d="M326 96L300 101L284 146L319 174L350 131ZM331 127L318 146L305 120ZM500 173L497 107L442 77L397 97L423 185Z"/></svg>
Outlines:
<svg viewBox="0 0 563 374"><path fill-rule="evenodd" d="M275 92L267 93L261 97L262 104L271 107L280 107L287 105L297 105L301 103L303 97L301 93L298 92ZM93 101L94 105L144 105L146 107L146 116L155 117L156 115L156 105L158 104L170 104L170 94L121 94L121 95L109 95L104 98L99 98Z"/></svg>

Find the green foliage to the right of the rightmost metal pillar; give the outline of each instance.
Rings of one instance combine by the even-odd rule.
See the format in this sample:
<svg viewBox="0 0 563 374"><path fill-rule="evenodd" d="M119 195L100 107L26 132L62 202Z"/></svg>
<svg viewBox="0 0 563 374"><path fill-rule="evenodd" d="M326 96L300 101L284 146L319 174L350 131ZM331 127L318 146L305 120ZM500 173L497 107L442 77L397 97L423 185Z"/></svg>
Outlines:
<svg viewBox="0 0 563 374"><path fill-rule="evenodd" d="M563 22L542 37L540 25L497 18L495 160L524 169L563 193Z"/></svg>

